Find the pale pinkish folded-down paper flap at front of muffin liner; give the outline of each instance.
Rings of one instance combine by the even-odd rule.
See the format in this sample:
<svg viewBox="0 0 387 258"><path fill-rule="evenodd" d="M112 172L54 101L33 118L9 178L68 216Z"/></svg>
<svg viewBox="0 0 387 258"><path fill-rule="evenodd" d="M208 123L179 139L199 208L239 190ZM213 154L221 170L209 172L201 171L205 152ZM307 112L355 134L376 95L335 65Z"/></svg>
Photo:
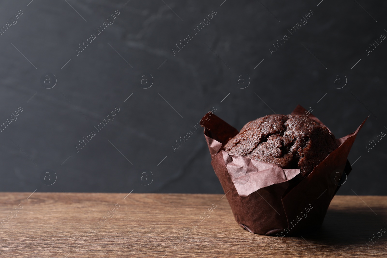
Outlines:
<svg viewBox="0 0 387 258"><path fill-rule="evenodd" d="M300 169L281 167L239 155L228 154L222 150L226 169L240 196L248 196L260 188L283 183L300 174Z"/></svg>

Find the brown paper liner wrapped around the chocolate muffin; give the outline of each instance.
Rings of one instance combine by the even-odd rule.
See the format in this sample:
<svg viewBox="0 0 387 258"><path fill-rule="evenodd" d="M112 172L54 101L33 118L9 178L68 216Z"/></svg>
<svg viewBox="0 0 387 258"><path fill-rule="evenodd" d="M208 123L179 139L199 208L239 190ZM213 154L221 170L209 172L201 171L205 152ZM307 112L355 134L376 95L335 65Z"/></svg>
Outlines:
<svg viewBox="0 0 387 258"><path fill-rule="evenodd" d="M324 125L300 105L291 114L308 114L308 118ZM211 165L236 222L255 234L289 236L314 231L322 225L330 201L342 185L335 179L346 178L351 171L347 157L365 121L354 133L337 139L339 147L305 178L299 175L300 169L282 169L228 154L223 146L239 132L211 111L200 124L204 127Z"/></svg>

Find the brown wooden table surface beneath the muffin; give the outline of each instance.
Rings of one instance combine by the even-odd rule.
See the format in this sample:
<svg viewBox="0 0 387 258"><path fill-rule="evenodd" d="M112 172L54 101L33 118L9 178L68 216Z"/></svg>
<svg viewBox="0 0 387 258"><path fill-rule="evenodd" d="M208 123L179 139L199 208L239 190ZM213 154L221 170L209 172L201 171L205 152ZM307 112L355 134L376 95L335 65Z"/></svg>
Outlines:
<svg viewBox="0 0 387 258"><path fill-rule="evenodd" d="M387 257L387 232L366 245L387 229L386 196L336 196L318 232L271 237L242 229L223 195L29 195L1 193L0 257Z"/></svg>

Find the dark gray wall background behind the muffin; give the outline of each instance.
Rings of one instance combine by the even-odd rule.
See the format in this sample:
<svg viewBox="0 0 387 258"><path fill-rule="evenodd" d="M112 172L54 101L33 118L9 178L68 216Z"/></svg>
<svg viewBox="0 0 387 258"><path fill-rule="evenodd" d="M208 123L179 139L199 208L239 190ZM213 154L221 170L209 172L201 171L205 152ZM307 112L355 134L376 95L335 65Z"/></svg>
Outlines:
<svg viewBox="0 0 387 258"><path fill-rule="evenodd" d="M0 27L23 14L0 36L0 122L23 111L0 133L0 190L222 193L202 131L173 152L175 141L212 107L240 130L301 104L337 138L370 115L348 159L361 157L338 193L387 194L387 140L366 149L387 132L387 43L366 53L387 35L386 2L320 1L2 1ZM114 23L77 56L78 44L115 10ZM211 23L174 56L175 44L212 10ZM272 44L309 10L307 24L271 56ZM52 89L40 83L45 72L57 78ZM142 89L149 74L154 83ZM250 85L239 89L247 75ZM346 86L335 89L344 75ZM77 152L116 106L114 120ZM41 180L45 169L57 175L51 186ZM150 171L154 179L143 186Z"/></svg>

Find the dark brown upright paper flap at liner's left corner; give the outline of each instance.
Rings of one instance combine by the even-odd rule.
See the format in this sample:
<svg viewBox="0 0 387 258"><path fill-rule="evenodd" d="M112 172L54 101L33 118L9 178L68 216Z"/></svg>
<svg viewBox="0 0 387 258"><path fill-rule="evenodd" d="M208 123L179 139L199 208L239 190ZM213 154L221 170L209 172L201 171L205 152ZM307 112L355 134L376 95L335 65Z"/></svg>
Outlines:
<svg viewBox="0 0 387 258"><path fill-rule="evenodd" d="M203 118L200 120L200 125L205 128L205 135L220 142L223 145L226 144L229 139L233 138L239 133L238 130L236 130L233 126L217 117L211 111L203 116Z"/></svg>

